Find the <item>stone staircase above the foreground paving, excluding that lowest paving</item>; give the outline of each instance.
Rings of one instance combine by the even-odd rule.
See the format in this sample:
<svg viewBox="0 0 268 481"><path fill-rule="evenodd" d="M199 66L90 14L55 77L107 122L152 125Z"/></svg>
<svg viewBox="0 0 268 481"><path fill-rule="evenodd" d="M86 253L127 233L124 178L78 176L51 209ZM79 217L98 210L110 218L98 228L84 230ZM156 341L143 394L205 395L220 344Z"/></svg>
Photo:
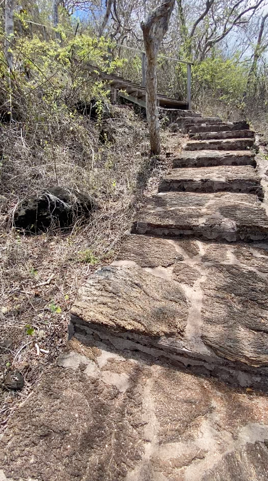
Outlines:
<svg viewBox="0 0 268 481"><path fill-rule="evenodd" d="M198 113L176 122L189 140L117 261L80 290L71 335L268 387L268 216L254 132Z"/></svg>

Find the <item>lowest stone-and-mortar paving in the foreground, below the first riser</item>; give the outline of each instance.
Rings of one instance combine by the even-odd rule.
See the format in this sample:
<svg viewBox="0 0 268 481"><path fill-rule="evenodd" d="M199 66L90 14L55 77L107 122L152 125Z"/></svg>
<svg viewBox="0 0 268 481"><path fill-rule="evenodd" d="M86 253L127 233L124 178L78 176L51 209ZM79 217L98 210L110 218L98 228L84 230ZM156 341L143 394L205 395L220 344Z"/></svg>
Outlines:
<svg viewBox="0 0 268 481"><path fill-rule="evenodd" d="M267 479L267 396L105 343L69 347L0 440L7 479Z"/></svg>

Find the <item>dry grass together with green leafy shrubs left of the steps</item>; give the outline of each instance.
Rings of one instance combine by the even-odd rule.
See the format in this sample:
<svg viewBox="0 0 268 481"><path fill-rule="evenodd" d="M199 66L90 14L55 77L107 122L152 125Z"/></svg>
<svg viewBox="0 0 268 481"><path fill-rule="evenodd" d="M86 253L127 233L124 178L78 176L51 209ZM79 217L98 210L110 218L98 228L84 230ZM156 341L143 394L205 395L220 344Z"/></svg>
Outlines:
<svg viewBox="0 0 268 481"><path fill-rule="evenodd" d="M115 258L170 162L150 157L144 121L112 105L97 73L89 75L88 61L107 71L116 64L105 52L104 39L86 35L62 44L34 37L17 42L12 72L0 59L0 380L19 370L25 381L22 391L2 386L2 429L65 349L79 286ZM163 152L178 143L162 131ZM16 230L22 201L56 186L92 195L99 208L68 230Z"/></svg>

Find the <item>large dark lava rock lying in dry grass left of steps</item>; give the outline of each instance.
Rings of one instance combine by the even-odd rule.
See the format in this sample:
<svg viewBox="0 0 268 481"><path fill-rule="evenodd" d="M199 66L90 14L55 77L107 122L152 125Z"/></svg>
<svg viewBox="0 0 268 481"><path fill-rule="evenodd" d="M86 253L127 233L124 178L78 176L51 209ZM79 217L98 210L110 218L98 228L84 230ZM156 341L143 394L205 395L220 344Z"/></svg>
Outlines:
<svg viewBox="0 0 268 481"><path fill-rule="evenodd" d="M39 233L52 225L69 227L78 217L89 217L97 207L92 196L62 187L46 189L25 199L14 216L16 228Z"/></svg>

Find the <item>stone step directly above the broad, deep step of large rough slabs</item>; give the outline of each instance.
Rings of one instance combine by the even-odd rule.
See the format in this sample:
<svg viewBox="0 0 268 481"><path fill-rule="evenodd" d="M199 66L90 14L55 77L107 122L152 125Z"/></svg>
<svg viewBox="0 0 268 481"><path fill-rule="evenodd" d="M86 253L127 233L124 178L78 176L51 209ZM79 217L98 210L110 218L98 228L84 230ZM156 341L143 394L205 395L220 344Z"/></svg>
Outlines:
<svg viewBox="0 0 268 481"><path fill-rule="evenodd" d="M167 192L141 210L133 232L250 242L268 239L268 217L255 195Z"/></svg>

